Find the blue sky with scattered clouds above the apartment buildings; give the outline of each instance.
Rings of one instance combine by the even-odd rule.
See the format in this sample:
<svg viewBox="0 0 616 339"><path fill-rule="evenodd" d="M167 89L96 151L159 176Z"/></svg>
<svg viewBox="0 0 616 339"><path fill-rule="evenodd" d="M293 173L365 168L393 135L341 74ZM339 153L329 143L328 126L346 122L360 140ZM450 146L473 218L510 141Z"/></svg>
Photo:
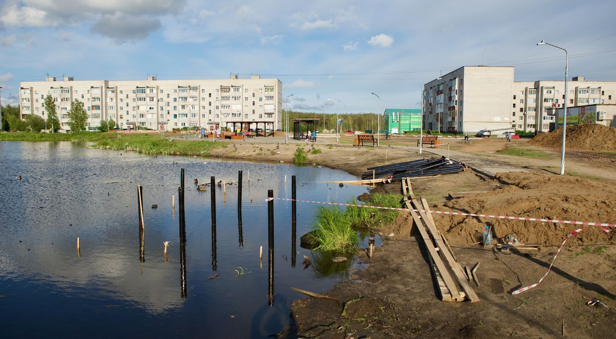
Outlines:
<svg viewBox="0 0 616 339"><path fill-rule="evenodd" d="M462 66L616 81L616 1L0 0L2 105L20 81L278 78L303 112L420 108ZM373 96L375 93L380 97ZM290 94L293 96L286 100ZM333 99L339 102L337 105Z"/></svg>

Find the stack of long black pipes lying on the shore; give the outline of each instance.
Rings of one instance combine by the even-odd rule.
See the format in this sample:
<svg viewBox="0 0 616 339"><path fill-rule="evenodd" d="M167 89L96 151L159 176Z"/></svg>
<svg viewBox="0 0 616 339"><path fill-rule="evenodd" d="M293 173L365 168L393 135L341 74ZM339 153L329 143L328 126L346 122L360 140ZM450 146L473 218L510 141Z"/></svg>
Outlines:
<svg viewBox="0 0 616 339"><path fill-rule="evenodd" d="M464 165L464 163L452 161L445 157L432 157L429 159L370 167L367 172L362 174L362 179L391 178L392 180L400 180L402 178L458 173L464 170L466 170L466 165Z"/></svg>

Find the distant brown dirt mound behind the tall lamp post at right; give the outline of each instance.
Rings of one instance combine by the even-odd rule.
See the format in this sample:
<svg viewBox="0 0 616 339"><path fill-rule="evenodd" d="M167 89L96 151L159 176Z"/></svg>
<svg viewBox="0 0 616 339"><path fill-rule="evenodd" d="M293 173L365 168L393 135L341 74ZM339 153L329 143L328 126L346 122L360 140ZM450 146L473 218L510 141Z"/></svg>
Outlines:
<svg viewBox="0 0 616 339"><path fill-rule="evenodd" d="M575 150L616 149L616 128L596 124L567 126L565 147ZM559 149L562 145L562 128L533 137L529 144Z"/></svg>

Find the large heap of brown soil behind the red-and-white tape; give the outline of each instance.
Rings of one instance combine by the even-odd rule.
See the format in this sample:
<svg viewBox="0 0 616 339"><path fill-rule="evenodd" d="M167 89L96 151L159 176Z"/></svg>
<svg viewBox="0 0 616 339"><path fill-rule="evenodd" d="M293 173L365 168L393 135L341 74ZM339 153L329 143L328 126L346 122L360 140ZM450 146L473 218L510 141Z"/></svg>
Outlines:
<svg viewBox="0 0 616 339"><path fill-rule="evenodd" d="M512 185L480 195L451 200L437 208L476 214L497 214L541 219L565 219L614 224L616 186L588 178L553 174L500 173L498 178ZM560 245L576 224L540 223L496 218L472 218L434 214L437 227L450 243L471 245L482 240L485 225L494 234L516 234L522 243ZM616 232L606 234L599 226L586 226L583 232L567 241L568 245L613 244Z"/></svg>

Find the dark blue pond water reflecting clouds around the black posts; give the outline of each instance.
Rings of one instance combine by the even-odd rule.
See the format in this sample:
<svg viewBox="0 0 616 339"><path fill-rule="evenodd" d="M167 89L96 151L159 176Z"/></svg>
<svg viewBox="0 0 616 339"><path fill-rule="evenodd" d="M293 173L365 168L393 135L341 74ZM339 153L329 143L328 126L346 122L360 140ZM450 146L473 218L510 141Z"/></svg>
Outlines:
<svg viewBox="0 0 616 339"><path fill-rule="evenodd" d="M180 168L186 172L185 270L180 267ZM237 184L238 170L243 170L241 228L237 186L228 185L226 194L216 186L213 242L211 188L200 192L193 179L209 182L216 176ZM265 198L268 189L275 197L291 198L292 175L298 199L347 202L366 191L324 184L357 179L327 168L152 157L70 142L1 142L0 337L265 338L278 332L289 322L291 302L304 297L290 287L323 292L345 279L349 266L332 266L299 246L299 237L314 224L317 205L298 203L299 254L293 267L291 203L275 200L270 306ZM137 184L144 187L143 239ZM304 255L313 263L306 269ZM235 277L239 267L246 273Z"/></svg>

